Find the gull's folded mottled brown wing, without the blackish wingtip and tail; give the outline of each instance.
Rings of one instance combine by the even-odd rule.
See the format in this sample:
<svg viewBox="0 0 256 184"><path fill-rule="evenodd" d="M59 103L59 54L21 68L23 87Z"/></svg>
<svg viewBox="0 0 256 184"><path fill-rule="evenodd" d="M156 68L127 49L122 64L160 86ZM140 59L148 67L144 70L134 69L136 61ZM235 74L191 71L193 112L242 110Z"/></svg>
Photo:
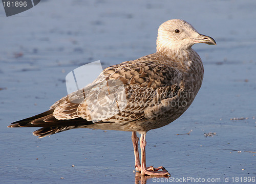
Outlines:
<svg viewBox="0 0 256 184"><path fill-rule="evenodd" d="M161 55L148 55L106 68L90 86L63 97L51 108L59 120L80 117L102 123L150 118L150 113L144 113L164 106L164 99L175 100L181 75ZM75 100L77 103L73 103Z"/></svg>

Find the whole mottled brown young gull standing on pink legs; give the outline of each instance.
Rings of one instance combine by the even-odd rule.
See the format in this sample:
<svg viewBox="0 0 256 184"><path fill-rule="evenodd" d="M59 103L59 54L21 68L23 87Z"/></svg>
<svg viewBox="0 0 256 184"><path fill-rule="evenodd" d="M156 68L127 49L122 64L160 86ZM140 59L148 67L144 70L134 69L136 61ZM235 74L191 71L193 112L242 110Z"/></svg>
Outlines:
<svg viewBox="0 0 256 184"><path fill-rule="evenodd" d="M191 48L195 43L216 45L188 22L168 20L158 29L154 54L110 66L92 84L61 98L50 110L8 127L41 127L33 132L39 138L74 128L129 131L135 169L142 175L170 175L162 166L146 167L145 136L180 117L197 95L204 69Z"/></svg>

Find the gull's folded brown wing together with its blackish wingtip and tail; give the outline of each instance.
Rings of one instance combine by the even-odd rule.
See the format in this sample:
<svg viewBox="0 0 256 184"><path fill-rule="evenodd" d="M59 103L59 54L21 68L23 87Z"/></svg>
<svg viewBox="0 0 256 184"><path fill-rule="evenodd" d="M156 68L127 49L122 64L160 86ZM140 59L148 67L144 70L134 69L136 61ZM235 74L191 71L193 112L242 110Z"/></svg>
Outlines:
<svg viewBox="0 0 256 184"><path fill-rule="evenodd" d="M91 85L56 101L49 111L9 127L42 127L33 133L41 138L88 125L107 123L111 129L109 123L146 121L164 113L164 100L175 100L181 91L183 74L168 60L152 54L106 68Z"/></svg>

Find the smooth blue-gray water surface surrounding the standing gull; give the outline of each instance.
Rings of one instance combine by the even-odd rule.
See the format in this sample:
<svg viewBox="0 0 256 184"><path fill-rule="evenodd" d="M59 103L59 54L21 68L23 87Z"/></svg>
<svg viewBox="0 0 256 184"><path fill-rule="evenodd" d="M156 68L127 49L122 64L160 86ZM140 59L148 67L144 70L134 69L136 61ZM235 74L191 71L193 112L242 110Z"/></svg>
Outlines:
<svg viewBox="0 0 256 184"><path fill-rule="evenodd" d="M129 132L75 129L37 139L36 128L7 126L67 95L65 77L73 69L155 52L159 25L174 18L217 45L193 46L204 62L203 85L182 117L147 133L147 165L162 165L174 178L248 183L244 177L256 177L255 9L249 0L55 0L6 17L1 5L1 183L156 183L136 178ZM204 136L210 132L216 135Z"/></svg>

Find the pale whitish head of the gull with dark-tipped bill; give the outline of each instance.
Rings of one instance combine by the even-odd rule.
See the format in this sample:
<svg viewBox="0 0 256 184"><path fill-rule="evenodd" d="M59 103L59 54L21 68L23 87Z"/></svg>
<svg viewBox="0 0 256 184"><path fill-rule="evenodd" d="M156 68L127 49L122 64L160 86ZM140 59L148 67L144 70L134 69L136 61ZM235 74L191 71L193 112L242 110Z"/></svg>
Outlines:
<svg viewBox="0 0 256 184"><path fill-rule="evenodd" d="M168 20L158 29L157 51L190 49L195 43L216 45L213 38L199 34L191 24L184 20Z"/></svg>

